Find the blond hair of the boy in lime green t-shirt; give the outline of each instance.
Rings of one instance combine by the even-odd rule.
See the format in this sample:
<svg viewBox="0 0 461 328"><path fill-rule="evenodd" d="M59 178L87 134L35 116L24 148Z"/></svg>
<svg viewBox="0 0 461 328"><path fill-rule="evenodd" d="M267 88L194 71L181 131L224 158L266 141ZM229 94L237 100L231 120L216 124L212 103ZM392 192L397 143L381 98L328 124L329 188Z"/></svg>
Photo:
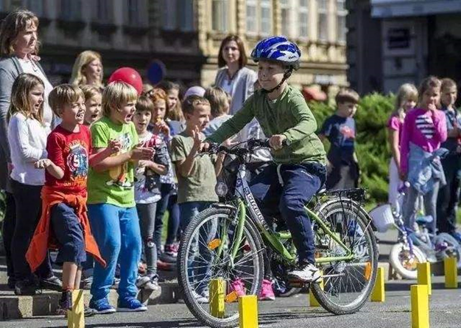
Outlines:
<svg viewBox="0 0 461 328"><path fill-rule="evenodd" d="M110 117L114 108L137 99L138 92L132 85L122 81L109 83L102 93L102 115Z"/></svg>

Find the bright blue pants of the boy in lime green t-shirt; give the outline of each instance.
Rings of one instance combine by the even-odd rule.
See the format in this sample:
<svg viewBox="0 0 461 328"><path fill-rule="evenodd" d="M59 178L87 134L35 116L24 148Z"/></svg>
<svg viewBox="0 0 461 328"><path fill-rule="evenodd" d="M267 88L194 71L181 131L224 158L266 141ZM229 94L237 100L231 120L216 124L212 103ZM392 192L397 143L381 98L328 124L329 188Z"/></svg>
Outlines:
<svg viewBox="0 0 461 328"><path fill-rule="evenodd" d="M92 301L107 298L114 282L117 259L120 263L119 298L135 297L138 263L141 258L141 231L136 207L118 207L111 204L89 204L91 231L99 252L106 260L103 268L95 262Z"/></svg>

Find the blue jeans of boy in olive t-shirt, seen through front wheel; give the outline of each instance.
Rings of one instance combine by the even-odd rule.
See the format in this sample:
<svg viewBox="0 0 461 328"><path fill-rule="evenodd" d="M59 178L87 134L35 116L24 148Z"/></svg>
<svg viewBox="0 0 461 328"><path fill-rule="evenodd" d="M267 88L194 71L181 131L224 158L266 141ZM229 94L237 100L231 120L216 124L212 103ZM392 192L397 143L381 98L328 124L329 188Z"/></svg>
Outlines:
<svg viewBox="0 0 461 328"><path fill-rule="evenodd" d="M211 202L187 202L179 204L180 210L180 224L182 231L185 231L187 225L192 221L192 219L201 211L207 209L213 203ZM199 283L195 290L200 294L205 289L207 289L207 283L209 277L211 277L211 271L208 267L203 265L203 261L196 259L195 254L197 251L204 261L211 263L212 252L208 249L207 245L211 240L216 236L217 231L217 222L216 220L206 223L200 228L198 238L194 238L192 242L191 249L189 250L189 260L187 263L188 266L188 276L190 277L191 283L194 280L202 281ZM200 243L199 243L200 239ZM195 267L199 267L198 269Z"/></svg>

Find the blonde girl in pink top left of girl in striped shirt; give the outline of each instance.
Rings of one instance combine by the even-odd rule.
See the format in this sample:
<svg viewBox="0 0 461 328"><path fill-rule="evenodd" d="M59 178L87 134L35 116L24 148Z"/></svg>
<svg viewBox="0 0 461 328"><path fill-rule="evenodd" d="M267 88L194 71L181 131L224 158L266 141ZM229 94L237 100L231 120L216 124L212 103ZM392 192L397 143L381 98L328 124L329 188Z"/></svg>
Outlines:
<svg viewBox="0 0 461 328"><path fill-rule="evenodd" d="M400 180L400 142L405 115L412 110L418 100L418 91L413 84L405 83L399 88L395 99L395 111L387 123L389 129L389 145L392 158L389 162L389 204L393 208L397 206L399 187L403 184ZM399 205L402 205L400 202Z"/></svg>

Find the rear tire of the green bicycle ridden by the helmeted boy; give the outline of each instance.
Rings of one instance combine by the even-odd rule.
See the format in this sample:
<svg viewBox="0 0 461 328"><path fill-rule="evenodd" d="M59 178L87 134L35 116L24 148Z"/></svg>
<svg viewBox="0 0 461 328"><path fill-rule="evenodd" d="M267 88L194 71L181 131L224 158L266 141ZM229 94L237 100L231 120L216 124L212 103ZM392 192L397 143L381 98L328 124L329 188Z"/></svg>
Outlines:
<svg viewBox="0 0 461 328"><path fill-rule="evenodd" d="M365 210L363 210L363 208L361 208L357 202L351 200L336 200L328 202L325 206L322 206L319 209L318 215L320 218L322 218L322 216L326 217L325 215L328 215L328 213L334 213L334 211L339 210L344 211L345 209L354 215L355 220L357 220L359 224L361 223L363 227L367 227L364 235L369 239L372 264L371 275L365 291L362 293L362 296L359 300L356 300L349 305L339 305L333 302L322 290L319 283L311 283L310 290L312 291L312 294L315 296L319 304L328 312L336 315L352 314L359 311L363 307L371 294L378 271L378 247L376 246L376 239L371 224L369 224L371 219L367 216Z"/></svg>

